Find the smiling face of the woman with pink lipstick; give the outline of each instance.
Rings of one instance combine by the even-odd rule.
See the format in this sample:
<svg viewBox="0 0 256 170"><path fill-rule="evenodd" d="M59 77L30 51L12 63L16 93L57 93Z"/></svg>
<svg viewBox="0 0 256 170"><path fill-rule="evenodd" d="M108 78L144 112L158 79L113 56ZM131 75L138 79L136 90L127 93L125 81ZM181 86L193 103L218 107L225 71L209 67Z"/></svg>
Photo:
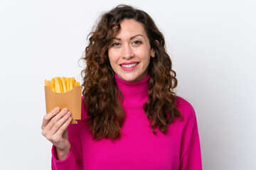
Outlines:
<svg viewBox="0 0 256 170"><path fill-rule="evenodd" d="M136 82L148 75L154 49L150 47L142 23L128 19L121 21L120 26L108 49L110 65L120 79Z"/></svg>

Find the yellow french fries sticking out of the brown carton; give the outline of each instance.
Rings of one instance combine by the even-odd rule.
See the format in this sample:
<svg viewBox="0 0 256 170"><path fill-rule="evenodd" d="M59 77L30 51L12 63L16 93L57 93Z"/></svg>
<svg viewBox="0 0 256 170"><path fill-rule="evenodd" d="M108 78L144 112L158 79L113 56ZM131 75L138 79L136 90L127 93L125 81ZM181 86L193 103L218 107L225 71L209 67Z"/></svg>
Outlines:
<svg viewBox="0 0 256 170"><path fill-rule="evenodd" d="M45 80L45 85L52 91L63 94L72 90L75 86L80 86L80 83L75 81L74 77L54 77L51 81Z"/></svg>

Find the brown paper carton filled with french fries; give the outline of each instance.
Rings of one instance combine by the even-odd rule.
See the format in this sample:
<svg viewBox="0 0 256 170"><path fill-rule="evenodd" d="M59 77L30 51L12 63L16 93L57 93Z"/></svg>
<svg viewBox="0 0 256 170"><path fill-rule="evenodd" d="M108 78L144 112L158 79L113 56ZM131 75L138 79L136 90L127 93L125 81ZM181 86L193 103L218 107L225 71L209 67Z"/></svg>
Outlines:
<svg viewBox="0 0 256 170"><path fill-rule="evenodd" d="M82 86L74 77L55 77L51 81L45 80L46 113L55 107L60 110L68 108L71 113L72 124L81 119Z"/></svg>

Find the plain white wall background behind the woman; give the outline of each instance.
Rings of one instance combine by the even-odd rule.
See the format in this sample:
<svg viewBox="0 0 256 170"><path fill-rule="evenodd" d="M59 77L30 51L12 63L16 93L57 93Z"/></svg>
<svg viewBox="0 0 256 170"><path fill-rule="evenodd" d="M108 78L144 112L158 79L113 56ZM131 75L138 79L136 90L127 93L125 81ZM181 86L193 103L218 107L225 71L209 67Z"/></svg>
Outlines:
<svg viewBox="0 0 256 170"><path fill-rule="evenodd" d="M44 80L81 83L87 34L122 3L149 13L165 35L176 92L196 110L203 169L256 169L254 0L1 1L0 169L50 169Z"/></svg>

